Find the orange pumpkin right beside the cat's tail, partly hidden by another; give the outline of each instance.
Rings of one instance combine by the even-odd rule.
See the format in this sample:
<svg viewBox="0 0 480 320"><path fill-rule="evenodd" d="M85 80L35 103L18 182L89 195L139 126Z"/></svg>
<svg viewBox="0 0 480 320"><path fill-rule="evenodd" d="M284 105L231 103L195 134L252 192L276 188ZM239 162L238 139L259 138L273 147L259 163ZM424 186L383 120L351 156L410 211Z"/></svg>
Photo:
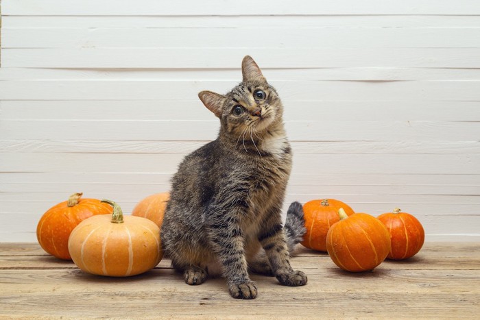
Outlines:
<svg viewBox="0 0 480 320"><path fill-rule="evenodd" d="M311 200L304 204L305 228L302 245L309 249L326 252L326 233L333 223L339 221L338 210L344 208L347 215L353 214L352 208L335 199Z"/></svg>

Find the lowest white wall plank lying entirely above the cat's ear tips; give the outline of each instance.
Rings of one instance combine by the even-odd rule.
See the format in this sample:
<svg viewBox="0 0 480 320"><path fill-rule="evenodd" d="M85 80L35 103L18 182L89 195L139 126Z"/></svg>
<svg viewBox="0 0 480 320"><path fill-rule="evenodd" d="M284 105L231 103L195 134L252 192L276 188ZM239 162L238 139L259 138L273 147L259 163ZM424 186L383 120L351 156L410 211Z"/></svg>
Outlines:
<svg viewBox="0 0 480 320"><path fill-rule="evenodd" d="M472 48L480 47L478 28L291 28L256 27L268 34L262 48ZM299 32L302 36L298 36ZM237 28L14 28L3 27L3 48L245 48L250 25ZM232 42L231 39L235 39Z"/></svg>

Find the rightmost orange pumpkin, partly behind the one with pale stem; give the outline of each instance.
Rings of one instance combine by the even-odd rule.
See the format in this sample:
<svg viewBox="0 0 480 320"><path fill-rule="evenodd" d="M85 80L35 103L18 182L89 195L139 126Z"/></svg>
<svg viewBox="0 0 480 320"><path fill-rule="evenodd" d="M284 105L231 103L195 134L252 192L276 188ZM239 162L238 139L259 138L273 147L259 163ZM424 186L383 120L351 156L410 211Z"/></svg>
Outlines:
<svg viewBox="0 0 480 320"><path fill-rule="evenodd" d="M387 258L403 260L415 256L422 248L425 232L422 223L407 212L395 208L393 212L379 215L379 220L387 227L392 241Z"/></svg>

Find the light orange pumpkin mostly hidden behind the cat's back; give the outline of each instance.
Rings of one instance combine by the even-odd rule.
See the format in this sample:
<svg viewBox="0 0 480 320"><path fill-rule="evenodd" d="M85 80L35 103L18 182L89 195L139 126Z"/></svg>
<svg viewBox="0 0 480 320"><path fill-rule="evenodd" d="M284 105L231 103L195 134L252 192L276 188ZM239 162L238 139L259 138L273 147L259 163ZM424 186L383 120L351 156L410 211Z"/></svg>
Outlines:
<svg viewBox="0 0 480 320"><path fill-rule="evenodd" d="M154 221L158 227L161 227L169 199L170 193L149 195L136 204L135 208L133 208L132 216L147 218Z"/></svg>

